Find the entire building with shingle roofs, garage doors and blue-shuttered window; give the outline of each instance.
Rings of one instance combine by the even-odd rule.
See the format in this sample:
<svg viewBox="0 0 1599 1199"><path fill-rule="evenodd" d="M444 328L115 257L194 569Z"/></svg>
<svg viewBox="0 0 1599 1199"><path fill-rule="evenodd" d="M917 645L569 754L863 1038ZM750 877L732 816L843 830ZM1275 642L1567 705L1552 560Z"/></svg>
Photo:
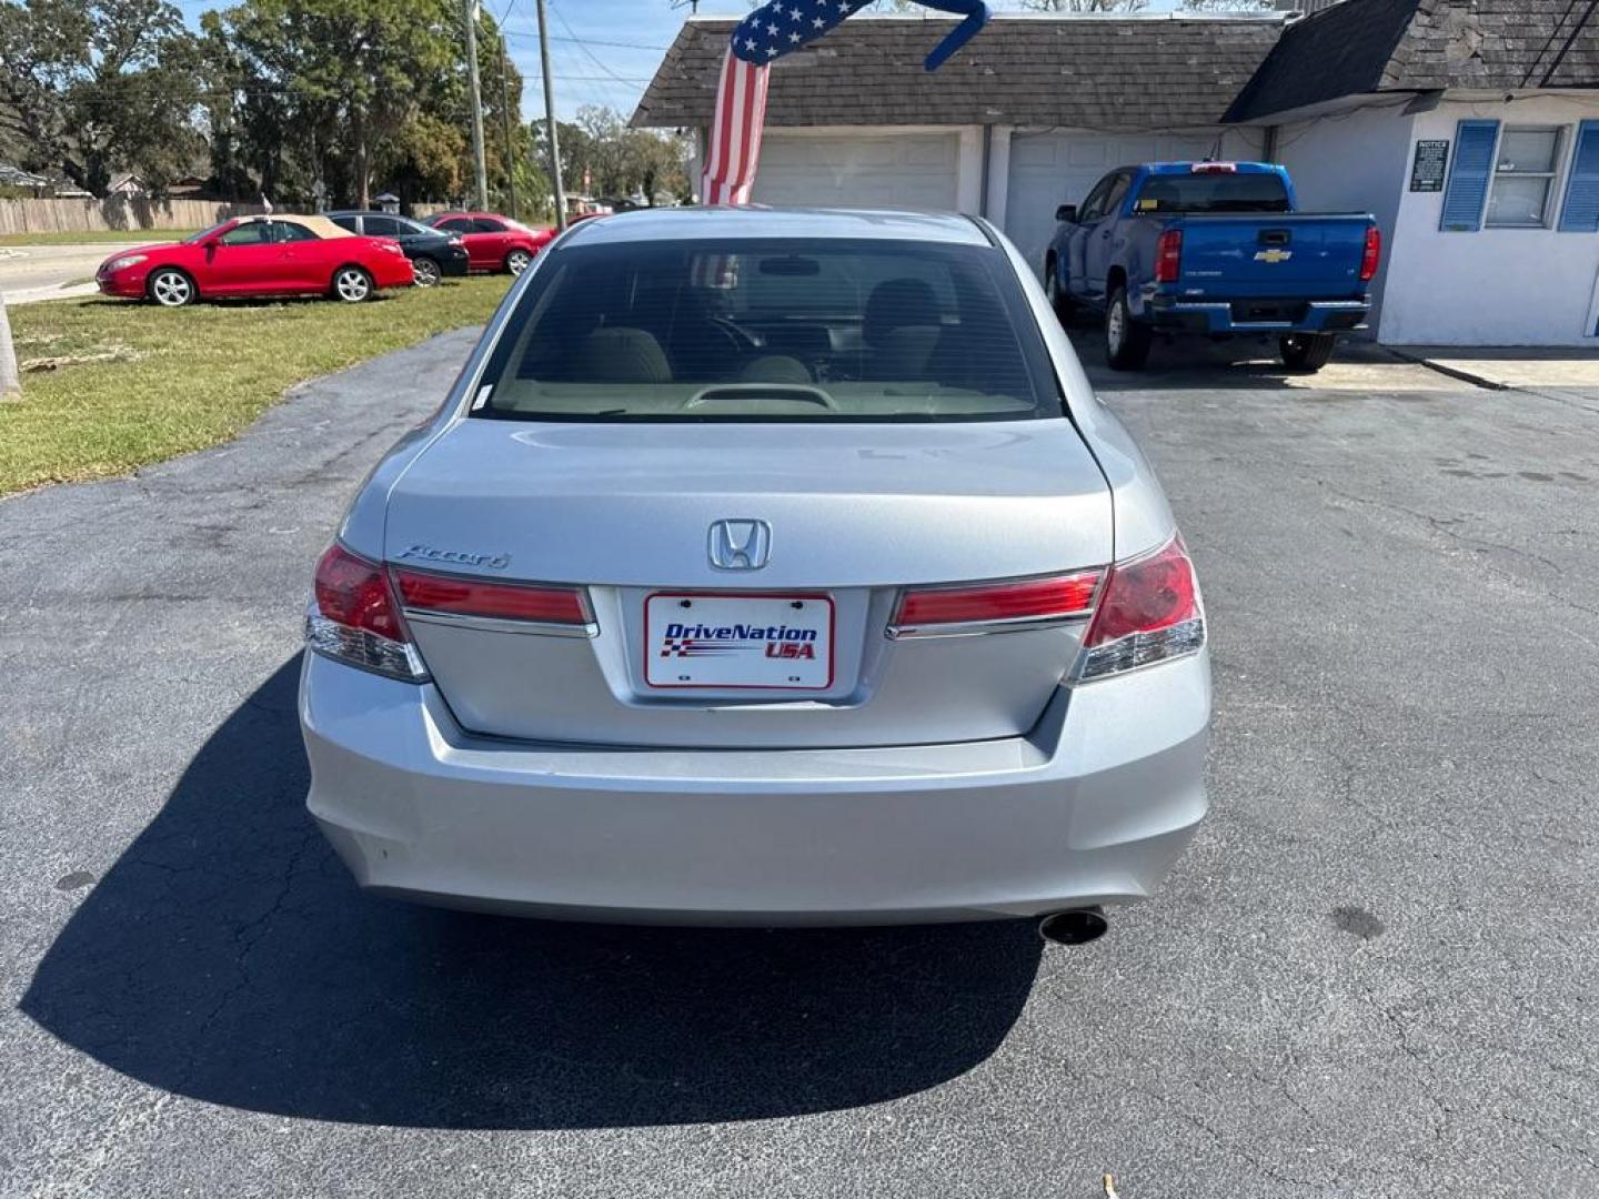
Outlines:
<svg viewBox="0 0 1599 1199"><path fill-rule="evenodd" d="M987 216L1043 265L1060 203L1137 161L1266 158L1382 225L1390 344L1599 342L1599 19L1572 0L1310 16L857 18L772 67L758 203ZM732 21L684 24L635 125L704 131Z"/></svg>

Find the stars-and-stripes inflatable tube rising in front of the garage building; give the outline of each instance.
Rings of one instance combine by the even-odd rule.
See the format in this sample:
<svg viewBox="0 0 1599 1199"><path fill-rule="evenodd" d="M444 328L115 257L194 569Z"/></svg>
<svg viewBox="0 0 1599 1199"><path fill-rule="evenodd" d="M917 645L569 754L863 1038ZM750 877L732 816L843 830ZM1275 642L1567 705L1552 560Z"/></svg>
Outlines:
<svg viewBox="0 0 1599 1199"><path fill-rule="evenodd" d="M959 50L988 19L982 0L924 0L927 8L964 14L966 19L927 56L934 70ZM761 129L766 125L766 86L771 64L823 37L844 18L871 0L771 0L732 30L716 85L716 117L705 147L700 201L747 205L761 161Z"/></svg>

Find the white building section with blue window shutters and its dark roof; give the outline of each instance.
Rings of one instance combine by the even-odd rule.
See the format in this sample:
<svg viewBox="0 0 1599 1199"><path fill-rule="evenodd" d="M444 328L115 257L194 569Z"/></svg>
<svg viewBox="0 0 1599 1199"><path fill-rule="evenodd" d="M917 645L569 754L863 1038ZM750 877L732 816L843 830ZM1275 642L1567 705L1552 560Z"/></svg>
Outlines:
<svg viewBox="0 0 1599 1199"><path fill-rule="evenodd" d="M1599 26L1570 0L1343 0L1290 24L1228 120L1318 208L1374 213L1380 341L1599 333Z"/></svg>

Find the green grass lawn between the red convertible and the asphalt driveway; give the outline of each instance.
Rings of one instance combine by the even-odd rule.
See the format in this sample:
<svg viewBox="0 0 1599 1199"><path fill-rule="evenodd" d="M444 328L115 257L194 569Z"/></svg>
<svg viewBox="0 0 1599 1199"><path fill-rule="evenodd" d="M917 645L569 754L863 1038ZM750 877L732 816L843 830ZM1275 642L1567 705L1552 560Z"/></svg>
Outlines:
<svg viewBox="0 0 1599 1199"><path fill-rule="evenodd" d="M508 283L489 275L366 304L69 299L11 309L22 400L0 403L0 494L225 441L297 382L481 325Z"/></svg>

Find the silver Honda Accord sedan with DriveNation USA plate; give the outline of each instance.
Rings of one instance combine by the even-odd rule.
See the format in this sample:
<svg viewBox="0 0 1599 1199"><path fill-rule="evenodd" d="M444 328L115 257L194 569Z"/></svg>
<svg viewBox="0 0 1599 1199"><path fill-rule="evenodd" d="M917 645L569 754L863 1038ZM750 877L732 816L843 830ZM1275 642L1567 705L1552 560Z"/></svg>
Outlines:
<svg viewBox="0 0 1599 1199"><path fill-rule="evenodd" d="M1092 927L1206 814L1193 564L964 216L579 224L361 488L305 638L309 806L390 895Z"/></svg>

